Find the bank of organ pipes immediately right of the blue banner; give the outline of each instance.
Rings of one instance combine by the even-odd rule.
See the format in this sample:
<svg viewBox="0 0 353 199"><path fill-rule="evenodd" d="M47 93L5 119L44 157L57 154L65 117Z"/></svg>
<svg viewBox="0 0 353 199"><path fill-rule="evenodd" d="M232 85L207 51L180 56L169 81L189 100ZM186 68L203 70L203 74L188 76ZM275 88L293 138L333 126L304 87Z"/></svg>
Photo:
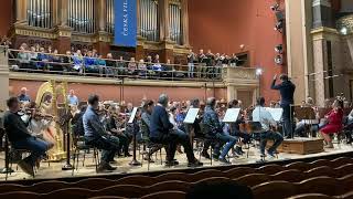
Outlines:
<svg viewBox="0 0 353 199"><path fill-rule="evenodd" d="M157 0L140 1L140 32L148 41L159 41L159 19Z"/></svg>

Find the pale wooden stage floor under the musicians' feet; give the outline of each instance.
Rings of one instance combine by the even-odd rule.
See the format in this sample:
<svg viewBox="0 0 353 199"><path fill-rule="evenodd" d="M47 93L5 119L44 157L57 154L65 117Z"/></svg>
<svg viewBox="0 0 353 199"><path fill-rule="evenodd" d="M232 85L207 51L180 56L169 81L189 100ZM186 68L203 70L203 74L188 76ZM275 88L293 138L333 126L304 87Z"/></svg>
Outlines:
<svg viewBox="0 0 353 199"><path fill-rule="evenodd" d="M245 150L245 149L244 149ZM245 150L246 151L246 150ZM278 155L277 158L266 158L267 163L278 163L278 161L285 161L285 160L300 160L300 159L307 159L307 158L320 158L324 156L340 156L342 154L346 153L353 153L353 146L352 145L334 145L334 149L325 149L322 153L319 154L311 154L311 155L296 155L296 154L285 154L281 153ZM199 158L199 154L195 151L196 158ZM170 170L180 170L180 169L188 169L186 165L186 157L185 154L179 154L176 153L175 158L179 160L180 165L175 167L165 167L164 164L161 165L161 161L159 159L159 154L158 154L158 159L156 160L156 156L153 155L153 159L156 163L150 164L150 169L149 171L170 171ZM162 150L162 158L164 160L165 154L164 150ZM139 156L137 156L138 160ZM119 174L141 174L141 172L148 172L148 165L147 161L143 161L142 166L129 166L129 163L131 161L131 157L129 158L116 158L118 164L114 165L118 167L118 169L115 172L109 172L108 175L119 175ZM85 160L85 166L82 166L82 160L83 156L79 158L79 167L78 170L74 172L74 177L94 177L94 176L104 176L104 175L97 175L95 171L95 166L93 161L93 153L86 155L86 160ZM229 166L229 165L223 165L220 161L213 161L211 165L211 161L208 159L202 158L201 159L204 164L202 168L213 168L213 167L220 167L220 166ZM259 151L257 148L250 147L249 149L249 157L246 157L246 154L244 156L240 156L238 158L232 158L231 161L232 165L234 166L246 166L250 164L258 164L260 160ZM42 163L41 168L38 170L35 175L35 179L57 179L57 178L71 178L72 177L72 171L63 171L62 166L64 165L65 161L62 163L51 163L50 166L47 163ZM4 167L4 153L0 153L0 168ZM13 164L12 168L15 170L17 165ZM8 181L9 180L23 180L23 179L33 179L32 177L25 175L20 168L15 170L15 172L12 172L9 175ZM0 181L6 180L6 175L0 174Z"/></svg>

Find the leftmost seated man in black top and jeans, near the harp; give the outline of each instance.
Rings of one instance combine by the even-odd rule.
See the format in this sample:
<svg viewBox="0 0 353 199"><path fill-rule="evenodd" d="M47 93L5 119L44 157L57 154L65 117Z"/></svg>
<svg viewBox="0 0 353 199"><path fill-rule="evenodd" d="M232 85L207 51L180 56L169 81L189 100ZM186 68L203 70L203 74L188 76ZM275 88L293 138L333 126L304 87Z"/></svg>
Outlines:
<svg viewBox="0 0 353 199"><path fill-rule="evenodd" d="M17 97L11 97L7 101L9 111L3 116L3 126L7 130L9 142L15 149L26 149L31 155L22 159L18 165L22 170L33 176L33 166L38 164L49 149L49 144L44 140L30 135L24 122L18 114L20 103Z"/></svg>

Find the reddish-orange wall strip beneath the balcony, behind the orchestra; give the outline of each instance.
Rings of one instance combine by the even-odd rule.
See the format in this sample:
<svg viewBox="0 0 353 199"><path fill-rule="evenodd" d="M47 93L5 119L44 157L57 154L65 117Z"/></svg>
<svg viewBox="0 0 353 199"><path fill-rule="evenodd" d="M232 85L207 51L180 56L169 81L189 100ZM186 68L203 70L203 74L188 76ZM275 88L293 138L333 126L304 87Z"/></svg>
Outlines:
<svg viewBox="0 0 353 199"><path fill-rule="evenodd" d="M10 80L10 95L18 95L21 87L26 87L28 94L32 100L35 100L42 83L40 81ZM81 101L87 101L89 94L99 95L101 101L120 101L119 85L71 83L68 90L75 90ZM121 93L124 93L124 101L140 105L143 97L157 101L161 93L168 94L171 101L181 102L195 97L203 101L205 96L213 96L214 92L213 88L205 90L203 87L124 86ZM226 88L216 88L215 95L217 98L226 98Z"/></svg>

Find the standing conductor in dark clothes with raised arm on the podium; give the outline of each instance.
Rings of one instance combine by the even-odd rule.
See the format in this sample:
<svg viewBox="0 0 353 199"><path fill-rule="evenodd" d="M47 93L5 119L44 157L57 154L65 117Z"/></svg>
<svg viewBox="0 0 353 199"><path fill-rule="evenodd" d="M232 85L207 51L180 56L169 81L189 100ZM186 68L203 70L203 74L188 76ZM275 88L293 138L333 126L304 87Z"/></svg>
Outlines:
<svg viewBox="0 0 353 199"><path fill-rule="evenodd" d="M281 96L280 107L284 109L282 119L284 119L284 136L287 138L292 137L293 132L293 109L290 107L291 104L295 104L295 91L296 85L289 80L288 75L280 75L280 84L276 85L277 75L274 76L271 84L271 90L278 90Z"/></svg>

